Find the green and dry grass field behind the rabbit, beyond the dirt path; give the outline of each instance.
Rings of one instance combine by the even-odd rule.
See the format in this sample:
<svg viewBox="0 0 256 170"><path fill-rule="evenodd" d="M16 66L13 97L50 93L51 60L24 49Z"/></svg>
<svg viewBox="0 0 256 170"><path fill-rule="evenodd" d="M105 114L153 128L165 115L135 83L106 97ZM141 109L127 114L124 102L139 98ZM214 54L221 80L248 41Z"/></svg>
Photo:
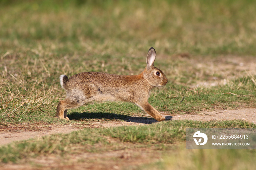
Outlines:
<svg viewBox="0 0 256 170"><path fill-rule="evenodd" d="M223 55L256 54L252 48L256 22L250 17L255 12L254 1L14 2L2 1L0 7L1 121L55 123L52 116L64 98L61 74L138 74L151 46L158 54L155 66L169 80L160 93L150 97L160 111L197 112L212 105L255 107L251 81L255 76L245 72L234 72L237 77L221 87L193 87L199 81L226 78L196 63L210 59L218 64ZM189 58L176 57L184 53ZM121 114L128 116L142 113L130 104L101 106L86 109L99 107L99 113L116 114L122 109ZM87 111L69 111L73 112Z"/></svg>

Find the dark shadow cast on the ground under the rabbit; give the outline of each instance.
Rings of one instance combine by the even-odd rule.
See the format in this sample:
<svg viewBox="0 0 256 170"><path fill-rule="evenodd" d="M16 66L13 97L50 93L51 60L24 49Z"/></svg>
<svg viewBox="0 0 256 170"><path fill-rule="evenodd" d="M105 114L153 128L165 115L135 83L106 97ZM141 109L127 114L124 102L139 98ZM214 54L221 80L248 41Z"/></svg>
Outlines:
<svg viewBox="0 0 256 170"><path fill-rule="evenodd" d="M105 120L114 120L114 119L121 119L128 122L134 123L144 123L144 124L151 124L158 122L154 118L151 117L135 117L135 116L127 116L127 115L120 115L116 113L102 113L102 112L92 112L92 113L78 113L73 112L67 115L70 120L85 120L85 119L105 119ZM172 116L165 116L166 120L171 120Z"/></svg>

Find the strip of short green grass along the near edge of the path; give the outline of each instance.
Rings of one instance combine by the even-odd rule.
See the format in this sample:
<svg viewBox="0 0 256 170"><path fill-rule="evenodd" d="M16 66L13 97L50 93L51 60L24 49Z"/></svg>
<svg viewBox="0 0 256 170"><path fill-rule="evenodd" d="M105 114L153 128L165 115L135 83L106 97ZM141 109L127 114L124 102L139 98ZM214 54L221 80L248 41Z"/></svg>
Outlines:
<svg viewBox="0 0 256 170"><path fill-rule="evenodd" d="M38 140L16 142L0 147L1 162L16 162L20 159L44 154L58 154L65 157L76 152L102 152L122 150L122 143L135 144L133 147L157 146L185 141L186 128L256 128L253 123L245 121L166 121L143 126L122 126L112 128L85 128L70 134L49 135ZM107 139L116 139L108 143ZM101 147L94 147L101 143ZM137 144L136 144L137 143Z"/></svg>

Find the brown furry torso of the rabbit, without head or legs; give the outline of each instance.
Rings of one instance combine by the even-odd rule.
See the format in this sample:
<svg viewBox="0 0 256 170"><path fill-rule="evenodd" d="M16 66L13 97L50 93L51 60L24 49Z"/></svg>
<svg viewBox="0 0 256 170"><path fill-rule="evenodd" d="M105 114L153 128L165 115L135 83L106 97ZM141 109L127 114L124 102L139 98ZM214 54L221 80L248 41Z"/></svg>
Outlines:
<svg viewBox="0 0 256 170"><path fill-rule="evenodd" d="M64 86L68 98L84 104L93 100L136 103L137 100L148 98L152 88L141 75L123 76L99 72L76 74Z"/></svg>

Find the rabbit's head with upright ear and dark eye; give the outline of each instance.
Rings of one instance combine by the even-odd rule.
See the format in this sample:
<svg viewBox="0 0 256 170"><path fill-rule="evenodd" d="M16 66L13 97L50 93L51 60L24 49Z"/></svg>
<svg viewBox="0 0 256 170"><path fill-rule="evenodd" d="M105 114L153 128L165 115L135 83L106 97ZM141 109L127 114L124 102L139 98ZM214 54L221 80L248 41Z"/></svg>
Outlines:
<svg viewBox="0 0 256 170"><path fill-rule="evenodd" d="M155 87L164 86L167 84L167 78L165 74L162 72L162 70L158 69L157 67L154 67L155 57L157 53L155 52L155 49L151 47L148 50L147 54L147 66L145 70L143 71L143 77L147 80L147 82Z"/></svg>

